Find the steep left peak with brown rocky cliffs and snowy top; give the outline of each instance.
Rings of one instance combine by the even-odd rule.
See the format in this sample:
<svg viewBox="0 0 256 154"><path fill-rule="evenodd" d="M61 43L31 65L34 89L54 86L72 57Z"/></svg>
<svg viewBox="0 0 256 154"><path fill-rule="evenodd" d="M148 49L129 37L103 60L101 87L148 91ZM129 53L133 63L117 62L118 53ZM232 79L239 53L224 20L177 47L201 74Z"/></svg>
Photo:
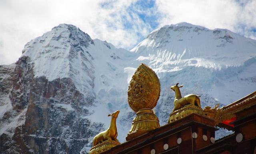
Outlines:
<svg viewBox="0 0 256 154"><path fill-rule="evenodd" d="M49 40L58 41L57 45ZM58 43L62 50L68 50L67 55L56 52L60 49ZM9 97L10 103L6 104L9 106L0 120L1 153L77 154L89 143L88 138L102 130L103 124L84 118L90 114L85 107L91 106L95 98L93 68L87 59L90 56L86 56L89 43L93 44L90 36L75 26L60 25L40 40L37 38L26 44L24 54L15 65L1 66L5 76L1 80L1 98L8 100ZM44 54L47 52L50 54ZM78 57L82 58L79 67L87 74L86 82L82 83L84 93L76 86L81 80L74 80L79 72L72 62ZM46 61L42 64L43 59ZM58 63L59 59L64 62ZM54 69L53 63L56 63L56 70L68 71L48 73L56 71L49 69ZM53 79L49 74L57 76ZM1 102L8 102L6 100Z"/></svg>

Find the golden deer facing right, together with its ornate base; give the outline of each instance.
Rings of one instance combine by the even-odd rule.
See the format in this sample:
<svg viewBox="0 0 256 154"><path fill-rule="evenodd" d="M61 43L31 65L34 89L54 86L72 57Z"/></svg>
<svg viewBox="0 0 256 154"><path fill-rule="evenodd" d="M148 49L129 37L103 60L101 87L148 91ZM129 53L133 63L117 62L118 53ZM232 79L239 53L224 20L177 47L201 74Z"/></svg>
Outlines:
<svg viewBox="0 0 256 154"><path fill-rule="evenodd" d="M116 118L118 117L119 110L108 114L111 116L110 126L107 130L100 132L92 140L92 148L90 149L89 154L99 154L104 152L120 143L117 140L117 129L116 129Z"/></svg>

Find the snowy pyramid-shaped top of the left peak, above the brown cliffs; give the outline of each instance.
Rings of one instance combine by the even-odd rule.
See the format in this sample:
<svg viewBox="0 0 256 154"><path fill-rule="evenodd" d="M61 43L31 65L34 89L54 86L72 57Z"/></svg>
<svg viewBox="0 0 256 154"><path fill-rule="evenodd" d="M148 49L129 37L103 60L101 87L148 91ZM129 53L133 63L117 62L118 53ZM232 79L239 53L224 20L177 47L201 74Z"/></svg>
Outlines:
<svg viewBox="0 0 256 154"><path fill-rule="evenodd" d="M83 87L92 87L94 77L90 73L79 73L88 72L93 67L93 58L88 52L90 45L94 46L94 41L88 34L76 26L60 24L28 42L22 51L22 57L29 57L35 77L45 76L49 81L72 78L77 82L77 78L82 78L88 81L84 82L88 84ZM82 86L78 89L83 91Z"/></svg>

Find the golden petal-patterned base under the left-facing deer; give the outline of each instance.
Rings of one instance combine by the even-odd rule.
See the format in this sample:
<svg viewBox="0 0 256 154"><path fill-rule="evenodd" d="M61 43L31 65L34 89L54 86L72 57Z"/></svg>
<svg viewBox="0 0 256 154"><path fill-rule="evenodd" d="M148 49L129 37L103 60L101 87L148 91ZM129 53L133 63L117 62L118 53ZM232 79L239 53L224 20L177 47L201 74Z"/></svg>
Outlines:
<svg viewBox="0 0 256 154"><path fill-rule="evenodd" d="M188 116L191 113L197 113L200 115L204 115L202 108L190 104L190 105L186 105L183 108L180 108L180 109L172 112L168 119L168 124L170 124L171 122L174 122L176 120L179 120L185 116Z"/></svg>

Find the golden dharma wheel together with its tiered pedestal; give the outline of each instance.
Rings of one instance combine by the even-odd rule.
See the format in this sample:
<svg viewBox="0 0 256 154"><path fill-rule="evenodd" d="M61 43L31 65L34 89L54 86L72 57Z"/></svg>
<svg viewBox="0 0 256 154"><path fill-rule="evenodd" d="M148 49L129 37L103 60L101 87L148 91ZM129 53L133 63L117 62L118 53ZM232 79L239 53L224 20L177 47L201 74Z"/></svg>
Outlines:
<svg viewBox="0 0 256 154"><path fill-rule="evenodd" d="M152 111L159 96L160 81L156 73L145 64L140 64L128 87L128 104L136 112L136 117L132 121L127 141L160 127Z"/></svg>

